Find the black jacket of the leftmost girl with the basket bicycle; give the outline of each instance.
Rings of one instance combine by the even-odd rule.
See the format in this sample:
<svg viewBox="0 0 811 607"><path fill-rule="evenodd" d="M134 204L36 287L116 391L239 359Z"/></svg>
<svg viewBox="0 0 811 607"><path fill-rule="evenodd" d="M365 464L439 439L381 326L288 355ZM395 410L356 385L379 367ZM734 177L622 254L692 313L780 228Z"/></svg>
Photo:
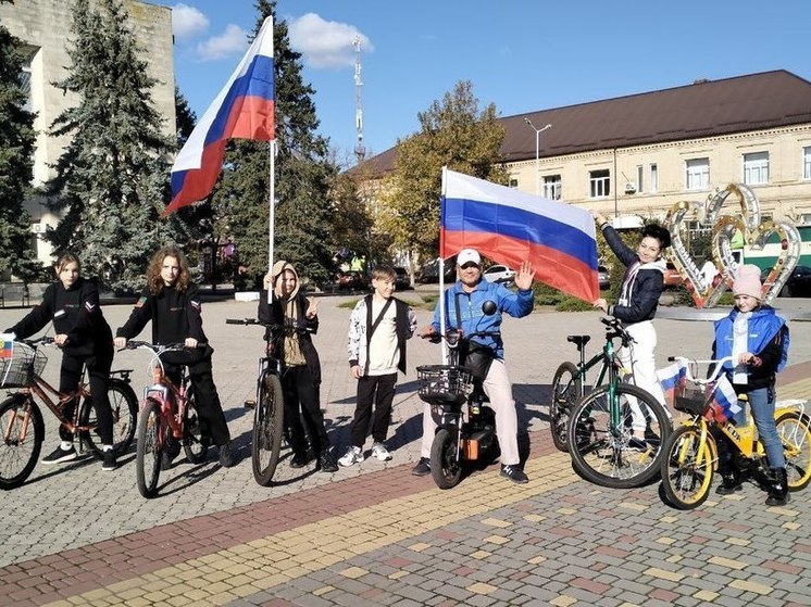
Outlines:
<svg viewBox="0 0 811 607"><path fill-rule="evenodd" d="M86 357L113 350L113 334L101 313L99 289L91 280L79 278L70 289L60 281L52 282L39 305L7 331L25 339L51 320L55 334L68 338L62 346L62 352L68 356Z"/></svg>

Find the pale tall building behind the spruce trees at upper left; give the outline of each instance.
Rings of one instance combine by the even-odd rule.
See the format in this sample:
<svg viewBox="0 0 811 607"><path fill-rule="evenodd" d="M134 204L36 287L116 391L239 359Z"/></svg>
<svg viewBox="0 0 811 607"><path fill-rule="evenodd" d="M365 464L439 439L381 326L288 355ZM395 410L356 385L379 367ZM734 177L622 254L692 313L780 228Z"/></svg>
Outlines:
<svg viewBox="0 0 811 607"><path fill-rule="evenodd" d="M66 76L70 62L65 49L71 34L71 8L65 0L16 0L0 4L0 22L28 50L29 61L24 68L27 83L29 110L36 112L34 128L37 131L34 153L34 184L40 185L53 176L53 165L67 144L67 137L49 137L48 128L64 110L78 104L71 92L53 86ZM149 75L158 80L152 89L155 110L164 117L164 131L175 132L175 75L173 63L172 10L137 0L125 0L129 23L144 49ZM39 200L27 203L32 214L32 233L45 231L46 225L54 226L55 217ZM50 262L50 244L37 238L37 255Z"/></svg>

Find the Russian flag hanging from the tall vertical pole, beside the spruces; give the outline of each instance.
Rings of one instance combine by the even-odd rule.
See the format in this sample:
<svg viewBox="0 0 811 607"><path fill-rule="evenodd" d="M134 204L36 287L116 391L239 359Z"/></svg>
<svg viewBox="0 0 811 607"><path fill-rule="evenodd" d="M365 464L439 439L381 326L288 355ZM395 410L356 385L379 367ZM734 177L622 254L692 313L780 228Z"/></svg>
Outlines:
<svg viewBox="0 0 811 607"><path fill-rule="evenodd" d="M177 154L172 166L172 202L164 216L211 193L223 167L228 139L274 138L274 93L273 17L267 17Z"/></svg>

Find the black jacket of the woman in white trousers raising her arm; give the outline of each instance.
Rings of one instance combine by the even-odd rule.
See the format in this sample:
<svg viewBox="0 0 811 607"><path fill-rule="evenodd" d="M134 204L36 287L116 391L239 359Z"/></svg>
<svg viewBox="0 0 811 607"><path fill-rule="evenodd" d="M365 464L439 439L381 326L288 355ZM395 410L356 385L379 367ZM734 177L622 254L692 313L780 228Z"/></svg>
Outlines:
<svg viewBox="0 0 811 607"><path fill-rule="evenodd" d="M602 235L616 257L626 267L622 279L623 287L625 287L632 278L632 273L635 271L635 264L639 263L639 256L636 251L622 241L620 235L611 226L603 225ZM659 298L664 289L664 262L654 262L641 266L636 270L636 277L631 279L628 283L628 293L625 301L621 300L616 304L610 305L608 313L626 325L652 320L657 314Z"/></svg>

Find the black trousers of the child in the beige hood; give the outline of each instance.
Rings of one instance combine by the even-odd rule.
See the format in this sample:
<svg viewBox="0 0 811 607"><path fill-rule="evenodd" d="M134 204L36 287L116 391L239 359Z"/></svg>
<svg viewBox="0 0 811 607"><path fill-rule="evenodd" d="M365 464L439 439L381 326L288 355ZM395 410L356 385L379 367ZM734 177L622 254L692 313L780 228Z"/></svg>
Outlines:
<svg viewBox="0 0 811 607"><path fill-rule="evenodd" d="M307 433L317 455L329 448L329 437L324 428L324 414L321 410L321 390L313 381L307 365L287 367L282 374L282 390L285 395L285 425L290 429L290 446L294 453L307 452Z"/></svg>

